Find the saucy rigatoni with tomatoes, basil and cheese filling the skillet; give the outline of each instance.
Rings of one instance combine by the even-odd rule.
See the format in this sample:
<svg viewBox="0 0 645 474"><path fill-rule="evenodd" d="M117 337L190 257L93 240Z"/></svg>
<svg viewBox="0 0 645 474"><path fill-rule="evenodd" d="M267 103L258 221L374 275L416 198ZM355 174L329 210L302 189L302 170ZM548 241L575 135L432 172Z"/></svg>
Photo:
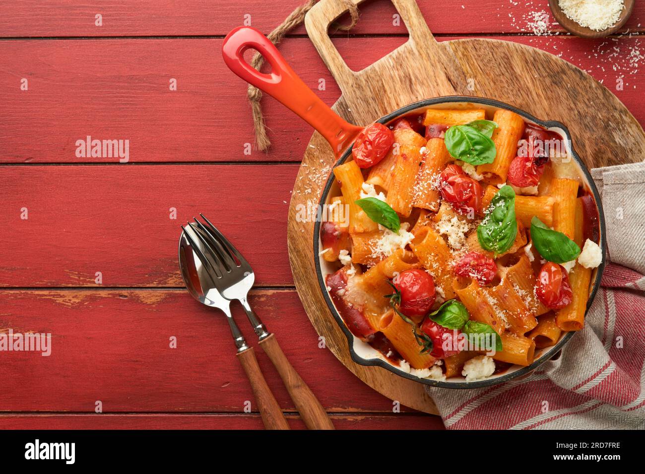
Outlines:
<svg viewBox="0 0 645 474"><path fill-rule="evenodd" d="M530 366L582 328L593 269L576 258L595 221L583 181L536 148L554 132L477 108L428 108L388 126L378 160L362 143L359 163L334 169L330 202L348 208L338 240L348 238L321 255L355 336L416 377L471 382Z"/></svg>

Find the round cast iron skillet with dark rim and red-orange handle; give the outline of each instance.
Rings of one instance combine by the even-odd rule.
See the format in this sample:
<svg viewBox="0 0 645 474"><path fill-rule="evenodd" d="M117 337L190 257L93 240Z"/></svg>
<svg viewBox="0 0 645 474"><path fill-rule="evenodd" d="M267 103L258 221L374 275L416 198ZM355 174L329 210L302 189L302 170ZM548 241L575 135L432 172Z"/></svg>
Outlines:
<svg viewBox="0 0 645 474"><path fill-rule="evenodd" d="M271 72L264 74L258 72L250 64L246 63L244 60L244 52L248 49L255 49L260 52L264 59L270 64ZM317 130L323 137L328 141L332 146L332 150L336 157L338 158L335 166L344 163L347 161L352 153L352 143L356 135L361 132L362 127L352 125L346 122L344 119L335 114L332 109L330 109L326 104L323 103L312 90L308 88L303 81L293 72L292 68L284 61L284 57L278 52L278 50L273 46L263 34L254 28L249 28L246 26L241 26L235 28L230 32L224 39L222 46L222 53L224 56L224 62L235 74L239 75L244 81L252 84L253 86L263 90L267 94L272 95L275 99L281 102L284 106L295 112L309 123L315 130ZM439 104L455 104L458 103L470 103L470 104L481 104L482 106L502 108L506 110L511 110L518 115L521 115L526 121L530 123L538 124L544 128L558 132L562 137L566 139L566 144L568 147L568 152L571 157L577 164L582 177L584 177L586 189L593 195L593 199L596 204L596 208L599 213L599 223L600 223L600 242L599 246L602 248L602 263L597 268L595 272L595 277L593 280L593 286L590 292L590 297L587 302L587 310L591 306L593 297L600 286L600 277L602 276L602 270L605 265L605 222L604 214L602 212L602 205L600 204L600 195L598 190L593 183L591 175L582 163L580 157L573 150L573 145L571 144L571 135L567 130L564 124L557 121L541 121L536 119L530 114L527 114L523 110L515 108L509 104L505 104L493 99L484 99L482 97L468 97L461 95L450 95L445 97L435 97L433 99L426 99L424 101L419 101L413 104L406 105L402 108L399 108L392 113L381 117L377 120L379 123L388 124L398 117L403 115L413 114L415 111L421 111L424 108L437 106ZM319 202L319 206L327 204L330 190L334 183L333 173L328 178L328 181L324 187L323 194ZM326 284L324 277L326 274L330 273L324 270L324 262L321 262L321 257L319 256L319 248L321 246L320 242L320 226L321 222L316 221L313 228L313 255L315 255L315 271L317 274L319 286L323 292L324 299L332 312L333 317L339 324L341 330L343 331L347 342L349 345L349 350L352 355L352 359L358 364L364 366L379 366L386 370L389 370L401 377L406 379L415 380L430 386L437 386L442 388L481 388L486 386L493 386L501 384L502 382L508 382L509 380L521 377L526 375L531 371L535 370L544 362L551 359L555 354L558 353L573 336L573 332L564 333L560 340L552 346L551 348L546 348L542 350L540 357L535 359L530 366L516 368L517 366L511 367L507 373L503 375L493 376L484 380L477 380L475 382L465 382L462 379L452 380L441 382L439 380L430 380L430 379L420 379L414 375L410 375L405 371L402 371L397 366L388 362L388 360L382 357L370 357L366 359L361 355L357 354L355 350L355 342L359 344L366 344L360 341L358 338L355 338L354 335L348 330L347 326L342 321L342 317L335 308L332 299L328 291L326 290ZM515 369L513 369L515 368Z"/></svg>

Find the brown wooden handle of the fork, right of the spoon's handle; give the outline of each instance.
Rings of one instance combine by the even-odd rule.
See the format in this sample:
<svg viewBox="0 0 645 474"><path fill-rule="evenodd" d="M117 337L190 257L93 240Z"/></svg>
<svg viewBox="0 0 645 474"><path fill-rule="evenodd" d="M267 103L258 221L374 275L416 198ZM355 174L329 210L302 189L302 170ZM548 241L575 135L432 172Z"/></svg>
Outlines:
<svg viewBox="0 0 645 474"><path fill-rule="evenodd" d="M300 412L300 416L303 418L307 428L310 430L333 430L332 420L330 420L321 402L313 395L312 390L304 383L302 377L286 358L277 339L275 339L275 335L272 334L260 341L260 346L269 356L281 379L283 379L284 386L286 386L286 390L291 395L295 408Z"/></svg>

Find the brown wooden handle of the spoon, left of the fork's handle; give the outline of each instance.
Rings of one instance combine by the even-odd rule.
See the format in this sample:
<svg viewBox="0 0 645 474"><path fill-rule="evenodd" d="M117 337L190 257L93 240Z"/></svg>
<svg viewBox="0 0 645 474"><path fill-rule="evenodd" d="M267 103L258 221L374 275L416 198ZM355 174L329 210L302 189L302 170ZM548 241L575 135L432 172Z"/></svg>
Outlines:
<svg viewBox="0 0 645 474"><path fill-rule="evenodd" d="M255 402L264 422L264 428L267 430L290 430L278 402L273 397L266 380L264 380L264 375L262 375L257 359L255 359L253 348L237 353L237 358L246 372L246 377L251 382Z"/></svg>

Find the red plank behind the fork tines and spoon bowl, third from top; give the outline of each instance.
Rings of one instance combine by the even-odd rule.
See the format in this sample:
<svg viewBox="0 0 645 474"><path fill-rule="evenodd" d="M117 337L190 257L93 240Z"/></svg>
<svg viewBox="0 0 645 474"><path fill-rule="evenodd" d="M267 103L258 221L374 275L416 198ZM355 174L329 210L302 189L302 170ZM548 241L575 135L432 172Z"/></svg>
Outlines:
<svg viewBox="0 0 645 474"><path fill-rule="evenodd" d="M15 244L0 254L0 286L183 286L179 225L199 212L244 253L256 284L293 284L286 214L296 173L295 164L5 166L0 241Z"/></svg>

